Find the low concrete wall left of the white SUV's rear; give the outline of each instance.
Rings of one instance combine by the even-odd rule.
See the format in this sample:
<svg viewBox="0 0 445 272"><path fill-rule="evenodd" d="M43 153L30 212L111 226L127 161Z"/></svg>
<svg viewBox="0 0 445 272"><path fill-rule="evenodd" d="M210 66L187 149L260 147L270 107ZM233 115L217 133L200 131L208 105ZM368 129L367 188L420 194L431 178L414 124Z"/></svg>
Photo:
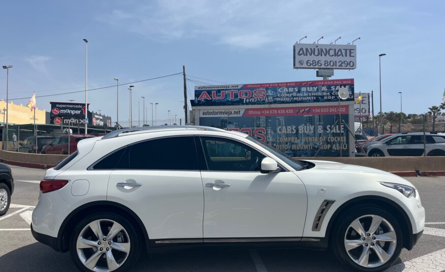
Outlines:
<svg viewBox="0 0 445 272"><path fill-rule="evenodd" d="M0 150L0 161L12 165L47 169L53 167L58 161L65 159L67 155L46 155L17 153Z"/></svg>

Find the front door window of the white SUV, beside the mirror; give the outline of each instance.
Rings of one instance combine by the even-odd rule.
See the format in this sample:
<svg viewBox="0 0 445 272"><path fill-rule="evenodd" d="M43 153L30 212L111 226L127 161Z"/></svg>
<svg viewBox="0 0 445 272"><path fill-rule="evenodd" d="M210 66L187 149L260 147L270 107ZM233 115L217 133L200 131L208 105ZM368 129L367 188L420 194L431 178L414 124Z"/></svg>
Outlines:
<svg viewBox="0 0 445 272"><path fill-rule="evenodd" d="M212 171L260 171L265 157L243 143L224 139L202 137L208 169Z"/></svg>

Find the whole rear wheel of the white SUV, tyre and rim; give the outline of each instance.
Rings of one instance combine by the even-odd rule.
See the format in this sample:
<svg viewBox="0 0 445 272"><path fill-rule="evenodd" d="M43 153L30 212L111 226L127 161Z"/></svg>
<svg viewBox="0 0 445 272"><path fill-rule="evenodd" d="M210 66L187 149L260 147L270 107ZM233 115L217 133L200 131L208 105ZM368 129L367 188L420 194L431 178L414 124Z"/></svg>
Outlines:
<svg viewBox="0 0 445 272"><path fill-rule="evenodd" d="M102 235L97 231L98 222ZM114 233L111 238L104 238L113 227L121 227L122 230ZM102 237L97 239L97 236ZM78 243L79 239L85 243ZM70 239L70 255L81 271L127 271L138 260L142 245L140 239L144 239L144 236L137 233L124 217L108 211L94 213L82 219L74 228ZM114 266L109 267L109 261L112 263L113 260ZM90 268L84 262L89 263Z"/></svg>

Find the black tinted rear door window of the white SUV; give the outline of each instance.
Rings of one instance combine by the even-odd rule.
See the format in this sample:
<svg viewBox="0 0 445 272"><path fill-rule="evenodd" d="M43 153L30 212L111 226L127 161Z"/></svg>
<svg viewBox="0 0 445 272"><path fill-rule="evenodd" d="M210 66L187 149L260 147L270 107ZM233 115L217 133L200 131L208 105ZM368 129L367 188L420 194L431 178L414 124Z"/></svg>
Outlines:
<svg viewBox="0 0 445 272"><path fill-rule="evenodd" d="M199 170L195 141L183 136L129 145L116 169Z"/></svg>

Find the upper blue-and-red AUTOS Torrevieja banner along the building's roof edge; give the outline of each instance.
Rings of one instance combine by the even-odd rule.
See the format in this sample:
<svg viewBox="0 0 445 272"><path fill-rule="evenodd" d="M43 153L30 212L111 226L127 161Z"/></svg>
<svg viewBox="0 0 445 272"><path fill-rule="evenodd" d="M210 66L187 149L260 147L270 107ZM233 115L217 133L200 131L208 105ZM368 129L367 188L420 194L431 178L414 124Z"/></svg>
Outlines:
<svg viewBox="0 0 445 272"><path fill-rule="evenodd" d="M338 101L341 87L354 100L354 79L195 86L192 106L268 105Z"/></svg>

